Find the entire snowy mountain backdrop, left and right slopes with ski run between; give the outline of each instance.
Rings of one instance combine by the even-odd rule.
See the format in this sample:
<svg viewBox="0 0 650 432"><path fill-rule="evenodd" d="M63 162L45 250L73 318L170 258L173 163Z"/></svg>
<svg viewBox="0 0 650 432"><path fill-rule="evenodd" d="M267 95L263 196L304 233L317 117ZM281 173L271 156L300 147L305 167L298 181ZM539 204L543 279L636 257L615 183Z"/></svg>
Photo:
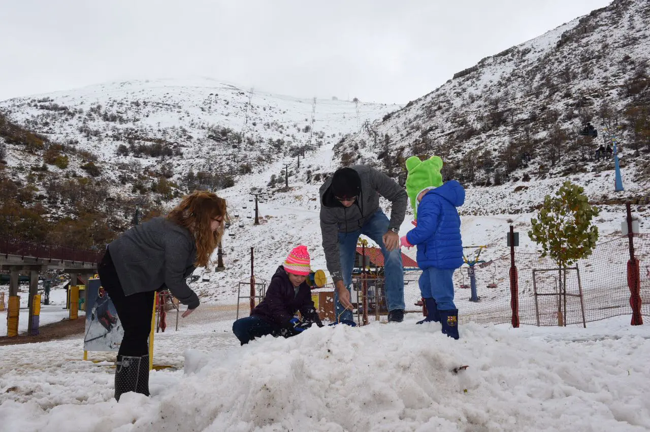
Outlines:
<svg viewBox="0 0 650 432"><path fill-rule="evenodd" d="M463 240L490 245L487 258L504 252L506 221L525 231L544 195L566 179L601 206L601 237L616 235L627 199L638 204L643 231L643 215L650 215L648 28L647 1L617 0L480 60L402 109L314 103L207 79L130 81L11 99L0 102L0 111L18 132L5 134L0 174L32 191L23 207L40 205L40 215L53 221L72 213L73 221L56 227L61 237L75 232L71 224L85 217L82 210L103 212L109 222L73 226L92 230L95 243L125 229L137 206L151 215L195 187L218 189L234 221L224 241L226 272L197 283L206 295L250 274L251 246L255 274L272 274L300 243L315 268L324 268L317 199L324 176L340 165L369 163L403 181L400 164L411 154L438 154L445 176L465 184ZM583 121L597 126L598 138L577 135ZM623 192L614 192L611 160L593 160L609 140L604 125L617 135ZM264 192L259 226L252 226L253 187ZM12 193L16 200L25 195ZM409 221L408 215L401 234ZM101 231L105 226L111 231ZM523 243L534 248L526 238Z"/></svg>

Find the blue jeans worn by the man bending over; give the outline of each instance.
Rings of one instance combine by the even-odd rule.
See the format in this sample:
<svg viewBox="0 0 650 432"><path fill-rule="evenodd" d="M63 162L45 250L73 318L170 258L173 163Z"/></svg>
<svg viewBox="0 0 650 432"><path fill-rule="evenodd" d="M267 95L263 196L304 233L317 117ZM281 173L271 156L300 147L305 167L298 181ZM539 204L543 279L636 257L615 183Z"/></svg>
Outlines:
<svg viewBox="0 0 650 432"><path fill-rule="evenodd" d="M341 276L343 283L350 291L352 283L352 268L354 267L354 257L357 250L357 241L359 235L367 235L382 248L386 303L388 310L404 310L404 267L402 267L402 252L396 248L388 252L383 245L382 236L388 231L389 220L382 210L374 212L370 219L365 222L361 230L353 232L339 232L339 260L341 262ZM337 320L352 320L352 311L344 311L344 307L339 303L339 293L334 290L334 304Z"/></svg>

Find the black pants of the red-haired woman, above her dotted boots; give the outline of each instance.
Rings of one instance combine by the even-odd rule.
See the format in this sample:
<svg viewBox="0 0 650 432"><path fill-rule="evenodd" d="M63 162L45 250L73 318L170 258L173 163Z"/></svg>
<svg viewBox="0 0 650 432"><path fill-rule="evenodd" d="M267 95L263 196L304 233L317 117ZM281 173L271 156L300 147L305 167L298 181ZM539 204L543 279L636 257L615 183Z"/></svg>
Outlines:
<svg viewBox="0 0 650 432"><path fill-rule="evenodd" d="M124 329L118 355L149 354L153 291L125 296L108 249L99 263L98 273L101 286L109 293Z"/></svg>

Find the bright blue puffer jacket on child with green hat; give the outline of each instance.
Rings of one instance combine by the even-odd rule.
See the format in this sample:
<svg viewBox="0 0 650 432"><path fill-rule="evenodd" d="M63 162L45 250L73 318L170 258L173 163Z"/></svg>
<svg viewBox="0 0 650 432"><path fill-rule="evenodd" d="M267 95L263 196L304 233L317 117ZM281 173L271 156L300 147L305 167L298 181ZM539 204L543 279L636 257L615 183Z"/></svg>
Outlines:
<svg viewBox="0 0 650 432"><path fill-rule="evenodd" d="M432 189L417 207L417 226L406 234L417 245L421 269L458 269L463 264L463 241L456 207L465 202L465 189L456 180Z"/></svg>

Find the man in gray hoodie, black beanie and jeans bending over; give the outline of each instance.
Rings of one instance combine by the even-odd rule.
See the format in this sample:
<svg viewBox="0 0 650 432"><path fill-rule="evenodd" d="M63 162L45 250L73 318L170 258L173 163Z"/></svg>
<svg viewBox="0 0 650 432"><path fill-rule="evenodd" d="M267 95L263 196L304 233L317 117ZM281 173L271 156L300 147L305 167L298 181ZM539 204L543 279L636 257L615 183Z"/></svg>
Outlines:
<svg viewBox="0 0 650 432"><path fill-rule="evenodd" d="M379 195L392 203L391 219L379 206ZM399 228L408 196L389 176L372 167L338 169L320 187L320 230L327 268L334 280L337 320L352 320L350 284L359 235L382 249L389 322L404 319L404 269Z"/></svg>

